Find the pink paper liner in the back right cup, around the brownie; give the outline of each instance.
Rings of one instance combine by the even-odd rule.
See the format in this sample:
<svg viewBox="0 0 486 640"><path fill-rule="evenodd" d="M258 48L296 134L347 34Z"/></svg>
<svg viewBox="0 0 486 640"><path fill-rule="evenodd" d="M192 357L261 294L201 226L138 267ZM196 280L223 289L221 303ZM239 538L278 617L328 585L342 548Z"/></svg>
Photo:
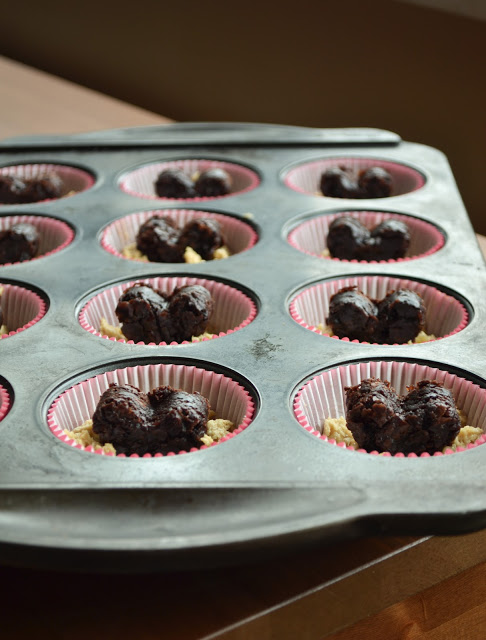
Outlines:
<svg viewBox="0 0 486 640"><path fill-rule="evenodd" d="M391 175L393 181L392 196L390 197L401 196L405 193L416 191L425 184L425 178L419 171L412 169L411 167L407 167L404 164L374 158L346 156L339 158L323 158L321 160L306 162L298 167L294 167L285 175L284 183L287 187L294 191L298 191L299 193L323 196L320 189L321 175L327 169L339 166L347 167L356 173L371 167L381 167L382 169L386 169L386 171ZM338 200L342 200L342 198L338 198Z"/></svg>

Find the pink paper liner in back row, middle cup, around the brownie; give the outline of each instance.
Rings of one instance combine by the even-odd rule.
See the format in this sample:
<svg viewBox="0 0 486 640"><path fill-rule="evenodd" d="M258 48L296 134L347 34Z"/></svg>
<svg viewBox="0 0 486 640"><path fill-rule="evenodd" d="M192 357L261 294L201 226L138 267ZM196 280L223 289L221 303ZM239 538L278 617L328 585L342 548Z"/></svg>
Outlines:
<svg viewBox="0 0 486 640"><path fill-rule="evenodd" d="M188 176L195 173L202 173L208 169L223 169L232 180L231 192L224 196L204 197L204 198L161 198L155 193L154 183L157 176L165 169L182 169ZM140 167L135 171L126 174L120 180L119 186L122 191L131 196L139 198L149 198L150 200L184 200L190 202L203 202L205 200L219 200L232 195L246 193L255 189L260 184L260 178L251 169L240 164L231 162L220 162L219 160L172 160L170 162L157 162Z"/></svg>

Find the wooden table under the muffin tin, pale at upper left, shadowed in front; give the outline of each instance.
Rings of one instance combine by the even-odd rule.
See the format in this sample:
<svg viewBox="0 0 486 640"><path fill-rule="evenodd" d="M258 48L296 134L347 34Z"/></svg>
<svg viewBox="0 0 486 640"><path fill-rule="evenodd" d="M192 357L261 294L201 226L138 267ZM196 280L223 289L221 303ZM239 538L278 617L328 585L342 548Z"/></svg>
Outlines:
<svg viewBox="0 0 486 640"><path fill-rule="evenodd" d="M4 58L0 83L2 138L170 122ZM480 242L486 251L486 238ZM5 638L486 637L486 531L362 539L185 573L108 576L0 567L0 580Z"/></svg>

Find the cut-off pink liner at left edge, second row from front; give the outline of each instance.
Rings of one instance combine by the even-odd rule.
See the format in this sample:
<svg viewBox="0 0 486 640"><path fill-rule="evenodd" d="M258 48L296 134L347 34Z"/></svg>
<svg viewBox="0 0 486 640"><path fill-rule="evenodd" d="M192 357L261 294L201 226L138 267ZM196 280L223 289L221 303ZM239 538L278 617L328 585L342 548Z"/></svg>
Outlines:
<svg viewBox="0 0 486 640"><path fill-rule="evenodd" d="M29 329L45 316L47 305L37 293L17 285L0 282L1 288L3 293L0 296L0 306L9 333L1 335L0 339L9 338Z"/></svg>

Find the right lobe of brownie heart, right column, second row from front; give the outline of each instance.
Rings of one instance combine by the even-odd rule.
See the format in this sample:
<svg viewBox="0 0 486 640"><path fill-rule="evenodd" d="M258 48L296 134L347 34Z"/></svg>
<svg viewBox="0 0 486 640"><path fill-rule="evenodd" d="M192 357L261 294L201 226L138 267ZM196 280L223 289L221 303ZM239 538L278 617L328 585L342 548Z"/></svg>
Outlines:
<svg viewBox="0 0 486 640"><path fill-rule="evenodd" d="M380 342L403 344L425 329L425 306L410 289L390 291L378 305Z"/></svg>

